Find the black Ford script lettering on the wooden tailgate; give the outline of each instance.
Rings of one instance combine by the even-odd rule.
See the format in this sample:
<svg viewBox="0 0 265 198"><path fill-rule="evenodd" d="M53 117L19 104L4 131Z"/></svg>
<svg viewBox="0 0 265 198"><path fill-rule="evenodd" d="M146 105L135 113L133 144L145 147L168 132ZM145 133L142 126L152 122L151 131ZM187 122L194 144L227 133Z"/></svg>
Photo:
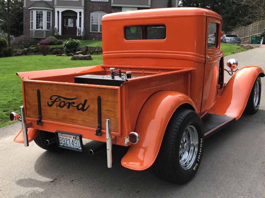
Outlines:
<svg viewBox="0 0 265 198"><path fill-rule="evenodd" d="M60 107L60 108L64 108L65 106L67 106L67 109L70 109L70 107L76 107L76 109L78 111L86 111L89 107L89 105L87 105L86 107L86 103L87 100L85 99L83 103L79 103L78 105L76 105L75 102L71 101L71 100L76 100L77 98L66 98L63 96L58 96L58 95L52 95L50 97L50 102L47 102L47 105L49 107L52 107L54 104L56 104L56 107ZM69 102L70 101L70 102Z"/></svg>

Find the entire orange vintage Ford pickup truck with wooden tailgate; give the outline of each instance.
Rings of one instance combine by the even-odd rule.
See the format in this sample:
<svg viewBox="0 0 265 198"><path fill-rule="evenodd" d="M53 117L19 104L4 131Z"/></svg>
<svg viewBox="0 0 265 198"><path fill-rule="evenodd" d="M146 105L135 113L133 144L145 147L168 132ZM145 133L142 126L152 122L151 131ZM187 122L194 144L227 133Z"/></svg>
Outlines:
<svg viewBox="0 0 265 198"><path fill-rule="evenodd" d="M21 117L12 112L10 119L22 129L14 141L50 151L82 151L82 138L100 141L108 167L112 144L130 146L122 166L153 165L161 179L189 181L204 139L259 108L261 68L235 70L231 59L234 73L224 84L221 24L220 15L201 8L105 15L103 65L17 73L23 106Z"/></svg>

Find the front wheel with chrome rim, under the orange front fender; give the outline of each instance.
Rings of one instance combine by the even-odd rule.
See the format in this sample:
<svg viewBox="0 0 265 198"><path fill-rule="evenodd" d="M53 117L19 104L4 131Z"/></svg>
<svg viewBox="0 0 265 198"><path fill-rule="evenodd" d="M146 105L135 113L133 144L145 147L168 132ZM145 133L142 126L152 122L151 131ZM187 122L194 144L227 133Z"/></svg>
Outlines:
<svg viewBox="0 0 265 198"><path fill-rule="evenodd" d="M246 114L255 114L259 110L260 96L261 96L261 79L260 76L258 76L255 80L255 83L249 95L248 103L245 108Z"/></svg>

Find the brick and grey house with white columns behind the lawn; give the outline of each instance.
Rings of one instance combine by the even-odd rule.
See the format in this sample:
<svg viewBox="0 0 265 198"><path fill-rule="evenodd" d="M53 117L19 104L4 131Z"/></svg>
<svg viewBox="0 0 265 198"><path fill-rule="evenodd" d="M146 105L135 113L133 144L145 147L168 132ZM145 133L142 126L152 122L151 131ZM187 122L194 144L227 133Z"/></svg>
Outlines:
<svg viewBox="0 0 265 198"><path fill-rule="evenodd" d="M113 12L167 7L168 0L24 0L24 35L101 40L101 18ZM172 0L177 7L178 0ZM77 28L81 28L81 35Z"/></svg>

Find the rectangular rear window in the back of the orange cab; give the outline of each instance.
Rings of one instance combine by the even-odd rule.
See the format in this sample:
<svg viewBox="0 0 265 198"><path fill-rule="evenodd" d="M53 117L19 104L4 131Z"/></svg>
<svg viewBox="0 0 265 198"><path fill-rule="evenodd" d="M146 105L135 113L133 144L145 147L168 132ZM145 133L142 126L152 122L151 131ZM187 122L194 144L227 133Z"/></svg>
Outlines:
<svg viewBox="0 0 265 198"><path fill-rule="evenodd" d="M165 25L126 26L124 28L126 40L156 40L166 38Z"/></svg>

